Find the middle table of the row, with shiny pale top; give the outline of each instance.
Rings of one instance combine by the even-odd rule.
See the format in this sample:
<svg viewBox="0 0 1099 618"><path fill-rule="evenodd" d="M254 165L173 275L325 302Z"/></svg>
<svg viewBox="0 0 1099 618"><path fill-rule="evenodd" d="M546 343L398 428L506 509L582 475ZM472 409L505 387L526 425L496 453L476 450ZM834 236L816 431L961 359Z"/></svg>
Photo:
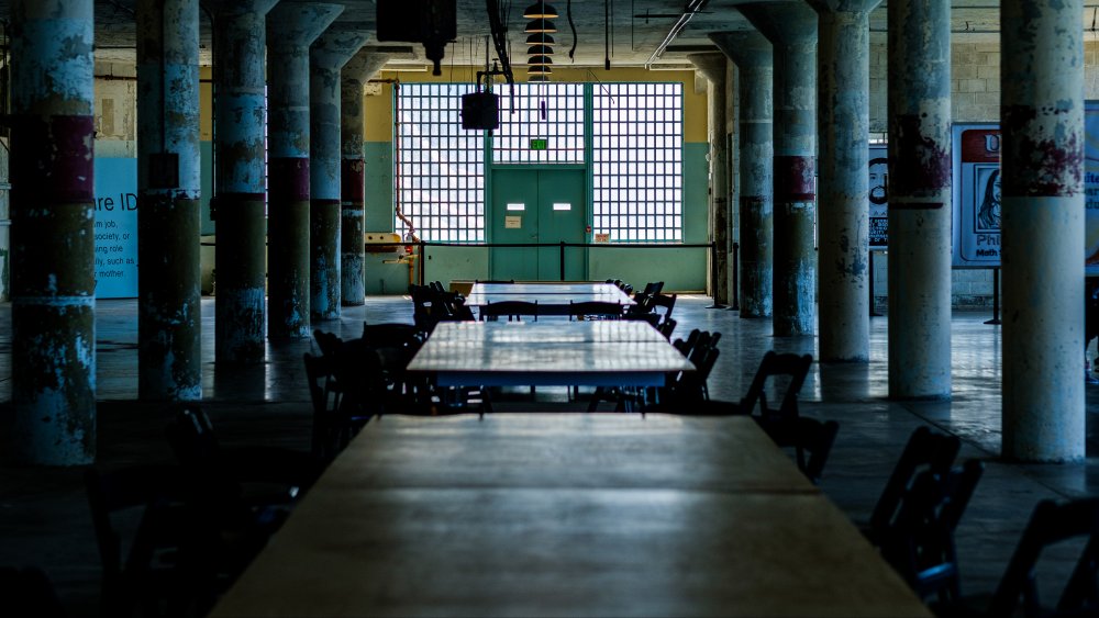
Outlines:
<svg viewBox="0 0 1099 618"><path fill-rule="evenodd" d="M409 371L442 386L660 386L690 363L644 322L441 322Z"/></svg>

